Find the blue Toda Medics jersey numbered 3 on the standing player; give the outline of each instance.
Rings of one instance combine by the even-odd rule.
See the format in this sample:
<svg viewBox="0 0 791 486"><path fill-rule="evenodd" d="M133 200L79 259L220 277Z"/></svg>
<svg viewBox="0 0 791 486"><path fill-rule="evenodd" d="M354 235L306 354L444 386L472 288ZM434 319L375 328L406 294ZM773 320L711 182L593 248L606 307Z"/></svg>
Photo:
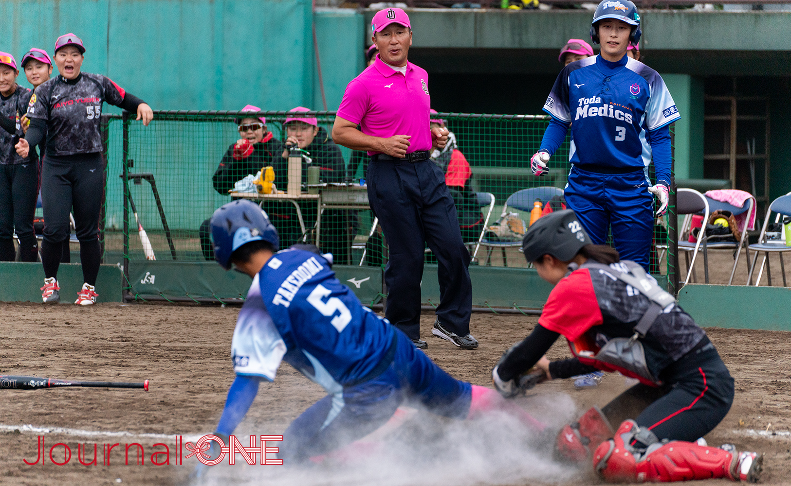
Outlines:
<svg viewBox="0 0 791 486"><path fill-rule="evenodd" d="M571 124L572 164L635 170L651 162L649 134L680 118L659 73L626 55L619 62L600 55L572 62L543 110ZM670 180L669 162L657 164L657 180Z"/></svg>

